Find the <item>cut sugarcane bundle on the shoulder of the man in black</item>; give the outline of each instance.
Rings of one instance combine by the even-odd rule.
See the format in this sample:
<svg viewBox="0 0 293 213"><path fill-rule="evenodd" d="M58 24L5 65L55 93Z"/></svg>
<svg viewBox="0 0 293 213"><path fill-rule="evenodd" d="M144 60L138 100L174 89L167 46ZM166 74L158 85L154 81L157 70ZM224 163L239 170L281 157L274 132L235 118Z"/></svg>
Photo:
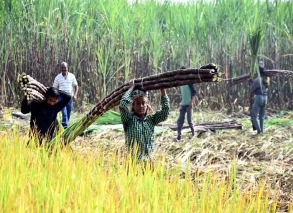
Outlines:
<svg viewBox="0 0 293 213"><path fill-rule="evenodd" d="M17 82L28 101L42 102L45 100L47 88L26 73L18 75Z"/></svg>

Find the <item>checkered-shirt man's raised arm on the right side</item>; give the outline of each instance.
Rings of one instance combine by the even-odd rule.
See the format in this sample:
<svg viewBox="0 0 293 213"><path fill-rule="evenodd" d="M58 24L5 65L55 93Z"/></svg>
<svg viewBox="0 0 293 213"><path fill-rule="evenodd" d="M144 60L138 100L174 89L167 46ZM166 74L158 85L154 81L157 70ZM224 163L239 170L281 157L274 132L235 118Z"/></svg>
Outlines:
<svg viewBox="0 0 293 213"><path fill-rule="evenodd" d="M169 98L166 95L165 89L161 89L161 107L160 111L157 111L154 115L151 115L154 125L165 121L170 113Z"/></svg>

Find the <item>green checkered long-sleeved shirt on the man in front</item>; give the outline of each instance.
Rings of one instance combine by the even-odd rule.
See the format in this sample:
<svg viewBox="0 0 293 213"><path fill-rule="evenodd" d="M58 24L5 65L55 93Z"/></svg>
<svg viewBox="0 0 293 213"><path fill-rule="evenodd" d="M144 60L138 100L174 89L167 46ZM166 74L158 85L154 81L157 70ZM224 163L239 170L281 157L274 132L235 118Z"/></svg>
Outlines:
<svg viewBox="0 0 293 213"><path fill-rule="evenodd" d="M137 160L154 160L154 128L158 123L168 118L170 107L168 96L161 97L162 109L152 115L147 115L144 120L130 113L128 104L131 103L132 92L127 91L120 101L121 121L124 128L125 144L128 150L138 146Z"/></svg>

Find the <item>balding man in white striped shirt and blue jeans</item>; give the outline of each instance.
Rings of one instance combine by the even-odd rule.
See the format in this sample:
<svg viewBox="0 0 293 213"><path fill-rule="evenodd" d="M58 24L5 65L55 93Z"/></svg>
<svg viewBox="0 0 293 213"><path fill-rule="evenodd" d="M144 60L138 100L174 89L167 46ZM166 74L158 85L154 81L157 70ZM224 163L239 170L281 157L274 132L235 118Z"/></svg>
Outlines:
<svg viewBox="0 0 293 213"><path fill-rule="evenodd" d="M66 62L61 63L61 73L56 76L53 87L58 88L61 91L69 93L72 96L71 101L62 109L62 126L68 127L70 113L72 110L73 102L76 101L78 84L73 73L68 72L68 64Z"/></svg>

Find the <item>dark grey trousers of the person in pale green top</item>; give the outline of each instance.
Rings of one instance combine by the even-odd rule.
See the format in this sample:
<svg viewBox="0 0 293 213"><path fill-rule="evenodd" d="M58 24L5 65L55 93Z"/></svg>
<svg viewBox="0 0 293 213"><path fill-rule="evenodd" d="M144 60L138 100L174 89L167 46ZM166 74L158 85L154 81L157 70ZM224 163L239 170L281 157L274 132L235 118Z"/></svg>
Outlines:
<svg viewBox="0 0 293 213"><path fill-rule="evenodd" d="M178 132L178 136L177 139L180 140L181 139L181 132L182 132L182 127L184 124L184 119L185 119L185 113L187 112L187 122L188 125L191 129L191 134L194 135L194 127L193 127L193 123L192 123L192 108L190 108L189 106L180 106L179 109L179 118L177 120L177 132Z"/></svg>

